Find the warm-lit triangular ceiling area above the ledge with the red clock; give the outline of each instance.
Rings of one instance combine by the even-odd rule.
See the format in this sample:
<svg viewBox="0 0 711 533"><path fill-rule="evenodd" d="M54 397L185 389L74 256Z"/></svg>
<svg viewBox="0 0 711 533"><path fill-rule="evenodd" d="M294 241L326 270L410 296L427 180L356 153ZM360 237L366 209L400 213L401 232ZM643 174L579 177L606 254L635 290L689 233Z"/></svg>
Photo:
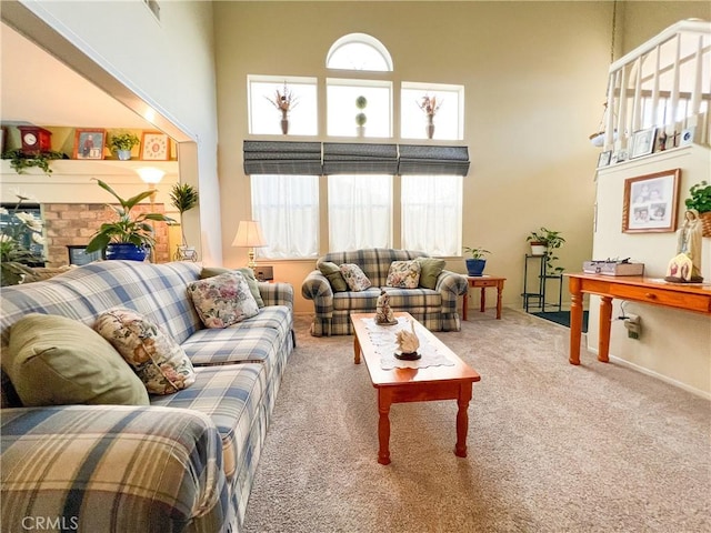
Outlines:
<svg viewBox="0 0 711 533"><path fill-rule="evenodd" d="M0 24L0 89L4 124L154 129L4 23Z"/></svg>

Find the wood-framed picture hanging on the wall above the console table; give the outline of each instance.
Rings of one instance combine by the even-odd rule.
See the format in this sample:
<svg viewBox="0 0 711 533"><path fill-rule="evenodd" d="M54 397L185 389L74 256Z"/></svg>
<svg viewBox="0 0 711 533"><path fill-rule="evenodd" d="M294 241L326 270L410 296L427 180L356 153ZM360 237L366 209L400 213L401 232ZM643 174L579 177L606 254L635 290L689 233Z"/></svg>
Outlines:
<svg viewBox="0 0 711 533"><path fill-rule="evenodd" d="M681 169L624 180L622 232L675 231L680 181Z"/></svg>

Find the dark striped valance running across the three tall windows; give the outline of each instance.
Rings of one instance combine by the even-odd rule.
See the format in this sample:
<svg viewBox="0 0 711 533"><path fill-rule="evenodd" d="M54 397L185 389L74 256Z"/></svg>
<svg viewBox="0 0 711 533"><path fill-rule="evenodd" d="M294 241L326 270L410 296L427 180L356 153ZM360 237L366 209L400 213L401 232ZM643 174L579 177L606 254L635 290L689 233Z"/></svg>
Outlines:
<svg viewBox="0 0 711 533"><path fill-rule="evenodd" d="M468 172L467 147L244 141L247 174L467 175Z"/></svg>

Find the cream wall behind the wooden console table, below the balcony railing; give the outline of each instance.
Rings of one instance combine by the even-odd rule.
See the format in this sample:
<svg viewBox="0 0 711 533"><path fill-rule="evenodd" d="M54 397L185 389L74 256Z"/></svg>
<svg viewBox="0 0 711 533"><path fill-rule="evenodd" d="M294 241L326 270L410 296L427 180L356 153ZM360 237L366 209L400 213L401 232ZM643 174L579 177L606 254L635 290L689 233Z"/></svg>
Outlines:
<svg viewBox="0 0 711 533"><path fill-rule="evenodd" d="M653 172L681 169L678 223L689 188L711 173L711 150L687 147L604 169L598 177L598 227L593 257L628 258L644 263L645 275L663 278L677 254L675 233L622 233L624 180ZM711 280L711 239L703 238L702 275ZM613 300L613 316L620 316ZM590 300L588 348L597 352L600 300ZM711 318L643 303L628 303L625 312L642 320L639 340L629 339L622 321L611 326L610 355L677 385L711 398Z"/></svg>

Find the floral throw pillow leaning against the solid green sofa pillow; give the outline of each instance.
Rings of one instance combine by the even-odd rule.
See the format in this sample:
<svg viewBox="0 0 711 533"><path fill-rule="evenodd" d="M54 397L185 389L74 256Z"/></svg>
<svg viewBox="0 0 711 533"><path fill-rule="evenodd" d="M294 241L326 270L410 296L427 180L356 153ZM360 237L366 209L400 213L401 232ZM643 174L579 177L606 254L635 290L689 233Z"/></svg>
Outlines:
<svg viewBox="0 0 711 533"><path fill-rule="evenodd" d="M119 352L151 394L172 394L196 382L182 348L158 324L132 309L99 315L93 329Z"/></svg>

